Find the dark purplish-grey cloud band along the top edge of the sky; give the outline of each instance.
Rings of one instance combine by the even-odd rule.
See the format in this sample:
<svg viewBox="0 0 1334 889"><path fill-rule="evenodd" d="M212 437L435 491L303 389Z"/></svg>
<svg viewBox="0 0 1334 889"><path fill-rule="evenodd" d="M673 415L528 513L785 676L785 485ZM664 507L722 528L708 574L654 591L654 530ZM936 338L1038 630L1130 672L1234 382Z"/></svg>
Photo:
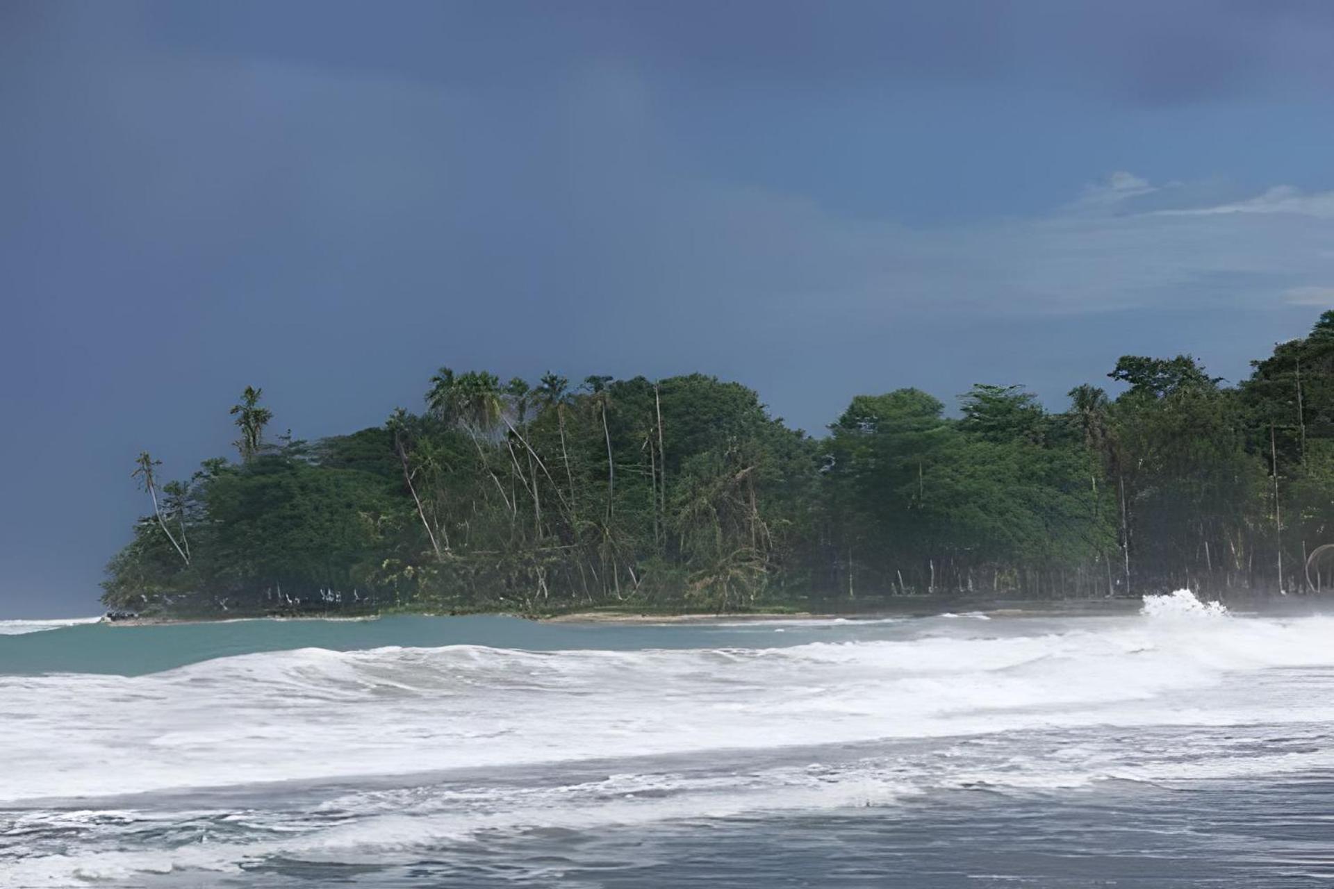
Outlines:
<svg viewBox="0 0 1334 889"><path fill-rule="evenodd" d="M1318 0L846 0L832 12L792 0L399 3L374 19L359 3L284 7L155 7L145 25L197 51L470 84L531 83L602 57L708 83L1043 80L1171 103L1273 85L1323 91L1334 73L1334 7Z"/></svg>

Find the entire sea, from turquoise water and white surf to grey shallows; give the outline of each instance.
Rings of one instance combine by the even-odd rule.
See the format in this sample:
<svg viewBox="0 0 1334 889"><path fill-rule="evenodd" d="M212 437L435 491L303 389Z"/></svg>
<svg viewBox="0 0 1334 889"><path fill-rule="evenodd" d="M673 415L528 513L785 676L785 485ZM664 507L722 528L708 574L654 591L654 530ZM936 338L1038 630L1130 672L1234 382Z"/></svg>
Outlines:
<svg viewBox="0 0 1334 889"><path fill-rule="evenodd" d="M1334 618L1186 590L43 626L0 638L0 884L1327 882L1331 738Z"/></svg>

